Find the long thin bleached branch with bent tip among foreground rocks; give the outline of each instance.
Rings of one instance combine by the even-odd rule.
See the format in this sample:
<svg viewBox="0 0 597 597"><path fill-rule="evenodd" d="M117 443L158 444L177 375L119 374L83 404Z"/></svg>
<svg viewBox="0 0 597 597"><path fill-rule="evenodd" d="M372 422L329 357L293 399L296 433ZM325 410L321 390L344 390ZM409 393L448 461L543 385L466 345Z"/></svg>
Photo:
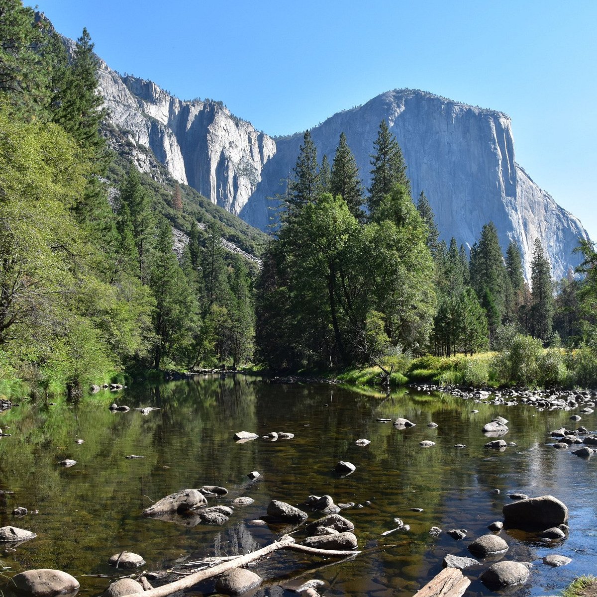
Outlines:
<svg viewBox="0 0 597 597"><path fill-rule="evenodd" d="M263 556L267 555L268 553L277 551L278 549L292 549L297 552L312 553L313 555L327 557L346 557L360 553L353 550L316 549L316 547L307 547L305 545L299 545L298 543L295 543L292 537L284 536L279 541L274 541L265 547L261 547L261 549L258 549L257 551L247 553L239 558L222 562L214 567L207 568L207 570L200 570L199 572L189 574L189 576L179 578L179 580L164 584L164 586L156 587L155 589L144 591L143 593L133 593L132 595L127 595L127 597L167 597L168 595L172 595L172 593L176 593L177 591L190 589L190 587L200 583L202 580L207 580L207 578L218 576L218 574L232 570L232 568L241 568L242 566L250 564L259 558L263 558Z"/></svg>

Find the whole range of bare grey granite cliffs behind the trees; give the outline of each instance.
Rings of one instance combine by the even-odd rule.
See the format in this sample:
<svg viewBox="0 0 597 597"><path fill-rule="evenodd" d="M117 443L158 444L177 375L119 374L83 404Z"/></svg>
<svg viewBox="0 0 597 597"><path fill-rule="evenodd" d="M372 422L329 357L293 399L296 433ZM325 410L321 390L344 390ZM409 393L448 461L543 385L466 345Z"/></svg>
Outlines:
<svg viewBox="0 0 597 597"><path fill-rule="evenodd" d="M131 144L149 147L174 179L266 228L267 198L284 193L302 134L274 141L219 102L181 101L150 81L121 77L106 65L100 84L110 121L130 131ZM537 237L555 278L578 263L572 251L587 233L516 164L508 116L423 91L388 91L315 127L311 132L319 158L325 153L333 161L344 132L367 187L382 119L404 152L413 198L425 192L446 241L454 236L470 248L491 220L504 250L510 239L518 242L527 278ZM137 164L147 168L141 156Z"/></svg>

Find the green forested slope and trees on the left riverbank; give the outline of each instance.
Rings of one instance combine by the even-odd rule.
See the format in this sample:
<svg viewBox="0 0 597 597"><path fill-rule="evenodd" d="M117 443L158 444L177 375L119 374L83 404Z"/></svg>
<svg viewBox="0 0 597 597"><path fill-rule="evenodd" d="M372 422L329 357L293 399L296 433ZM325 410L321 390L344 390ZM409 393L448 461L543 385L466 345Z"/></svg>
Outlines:
<svg viewBox="0 0 597 597"><path fill-rule="evenodd" d="M87 30L70 47L20 0L0 0L5 392L26 380L77 395L125 370L253 355L257 269L220 241L256 253L263 235L107 149L98 66ZM188 236L178 256L173 224Z"/></svg>

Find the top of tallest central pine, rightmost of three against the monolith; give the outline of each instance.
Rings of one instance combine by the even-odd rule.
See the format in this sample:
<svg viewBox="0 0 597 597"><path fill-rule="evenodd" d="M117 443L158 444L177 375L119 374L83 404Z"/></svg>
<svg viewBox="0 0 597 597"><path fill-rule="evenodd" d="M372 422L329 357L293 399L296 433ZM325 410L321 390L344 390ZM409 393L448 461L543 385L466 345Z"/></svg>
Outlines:
<svg viewBox="0 0 597 597"><path fill-rule="evenodd" d="M410 180L407 177L407 166L402 156L402 150L396 137L390 133L385 120L379 125L377 139L373 143L375 153L371 154L371 186L367 207L369 213L381 204L382 199L388 195L396 183L402 184L410 195Z"/></svg>

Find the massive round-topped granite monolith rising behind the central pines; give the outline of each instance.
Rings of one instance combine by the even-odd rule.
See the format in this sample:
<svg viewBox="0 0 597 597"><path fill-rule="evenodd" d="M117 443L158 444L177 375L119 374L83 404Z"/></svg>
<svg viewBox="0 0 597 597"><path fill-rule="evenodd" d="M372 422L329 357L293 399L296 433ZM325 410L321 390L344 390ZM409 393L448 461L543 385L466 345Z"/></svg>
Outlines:
<svg viewBox="0 0 597 597"><path fill-rule="evenodd" d="M588 238L586 230L516 164L507 115L423 91L388 91L313 128L319 158L325 153L333 161L344 132L367 187L382 119L402 148L414 199L424 191L447 242L454 236L470 248L483 225L493 221L504 251L510 239L518 242L527 278L537 237L556 278L578 263L572 251L578 238ZM271 213L266 198L284 190L280 181L292 171L302 140L302 134L276 140L276 155L263 168L261 182L240 213L243 219L266 226Z"/></svg>

